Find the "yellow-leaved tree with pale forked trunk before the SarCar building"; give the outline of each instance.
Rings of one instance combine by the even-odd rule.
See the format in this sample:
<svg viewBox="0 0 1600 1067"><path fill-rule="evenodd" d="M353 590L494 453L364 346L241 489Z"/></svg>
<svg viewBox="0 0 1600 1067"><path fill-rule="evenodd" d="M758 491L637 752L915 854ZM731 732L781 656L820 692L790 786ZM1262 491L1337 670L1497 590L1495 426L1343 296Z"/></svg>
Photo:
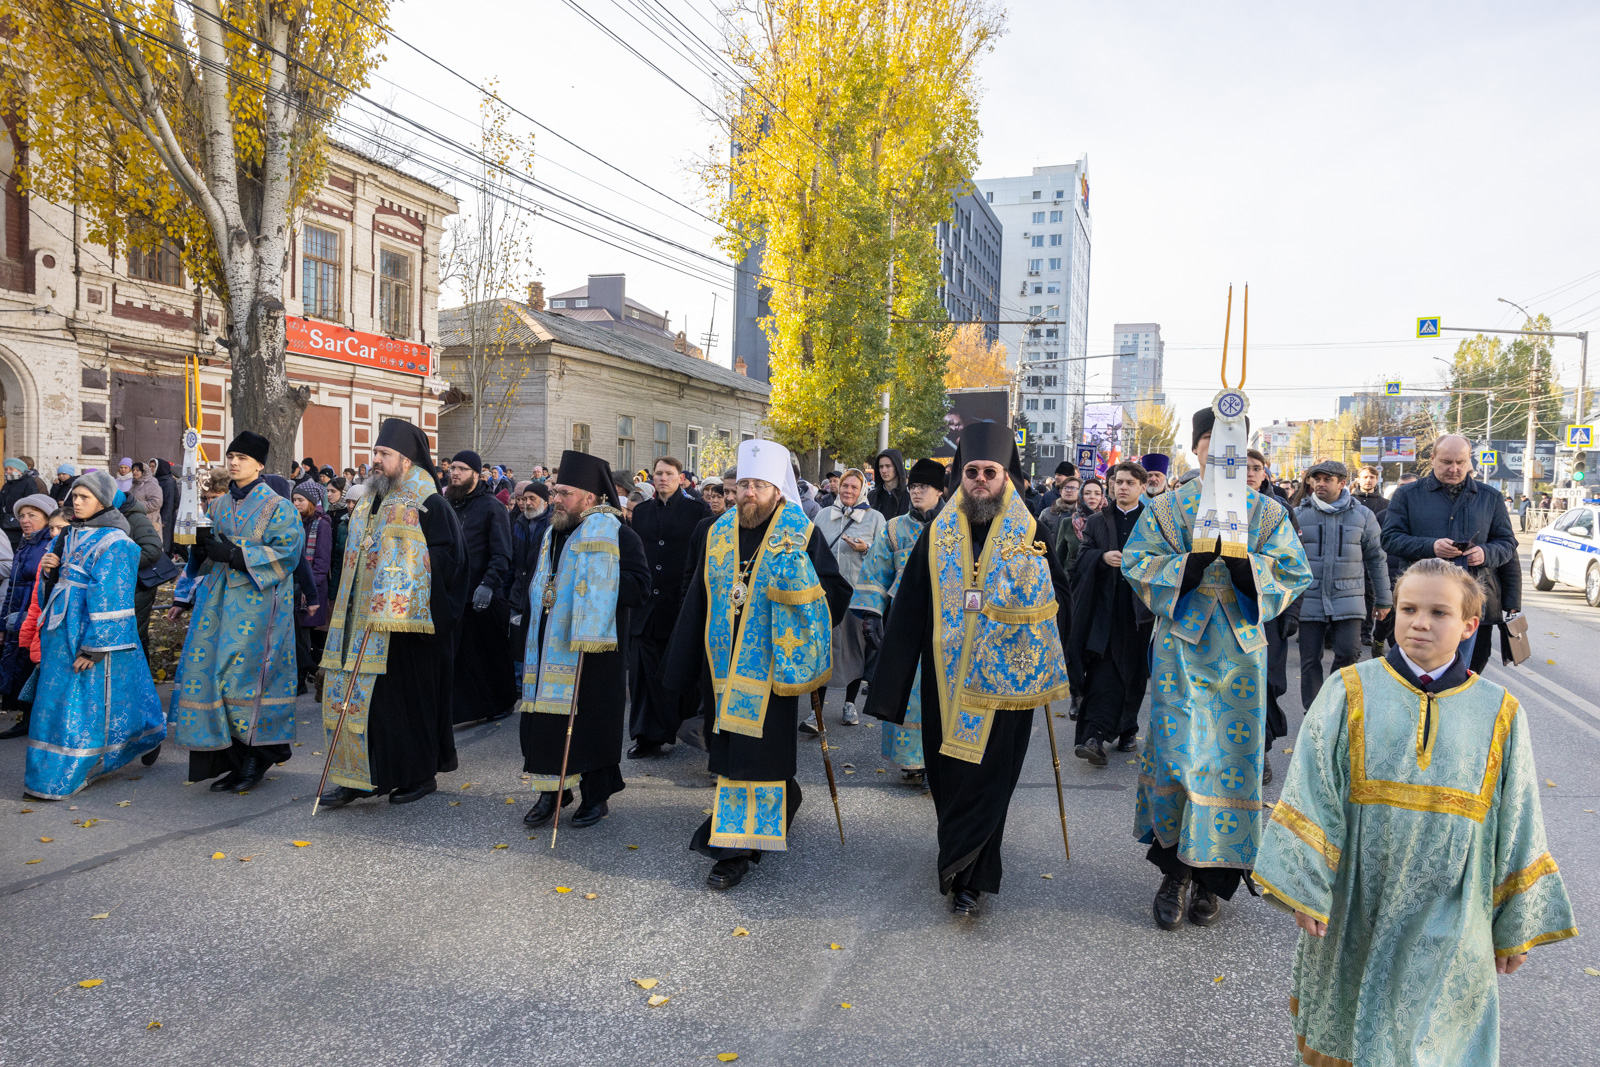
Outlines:
<svg viewBox="0 0 1600 1067"><path fill-rule="evenodd" d="M227 307L232 410L288 456L307 392L283 360L293 213L334 114L381 58L386 0L0 0L3 106L27 195L154 251Z"/></svg>

